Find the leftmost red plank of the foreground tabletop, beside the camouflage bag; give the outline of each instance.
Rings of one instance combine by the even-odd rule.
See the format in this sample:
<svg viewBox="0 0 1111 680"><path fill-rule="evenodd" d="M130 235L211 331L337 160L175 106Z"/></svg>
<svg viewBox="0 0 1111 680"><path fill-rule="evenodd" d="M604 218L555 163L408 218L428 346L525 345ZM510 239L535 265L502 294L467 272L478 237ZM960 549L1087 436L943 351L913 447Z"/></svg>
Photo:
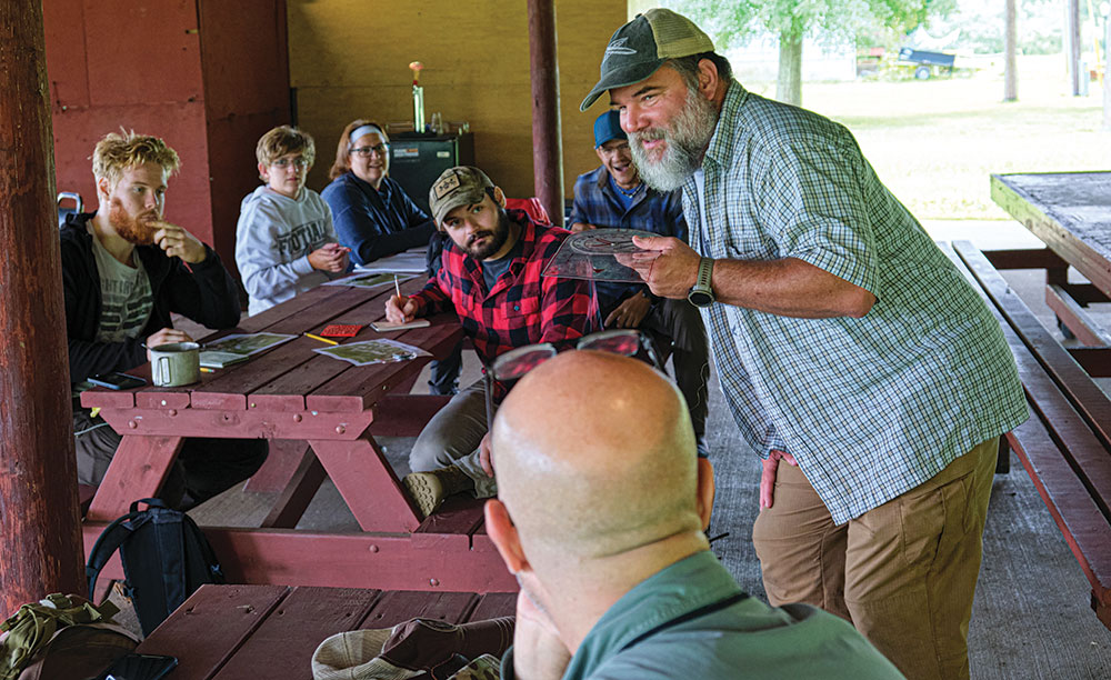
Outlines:
<svg viewBox="0 0 1111 680"><path fill-rule="evenodd" d="M202 586L137 651L177 657L174 680L208 680L289 593L286 586Z"/></svg>

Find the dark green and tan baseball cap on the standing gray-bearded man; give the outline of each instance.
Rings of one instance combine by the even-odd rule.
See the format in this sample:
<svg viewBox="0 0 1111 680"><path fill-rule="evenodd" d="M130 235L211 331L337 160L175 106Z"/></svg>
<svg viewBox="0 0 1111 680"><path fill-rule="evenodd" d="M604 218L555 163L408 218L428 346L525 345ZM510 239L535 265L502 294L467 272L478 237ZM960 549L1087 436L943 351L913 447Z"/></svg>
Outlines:
<svg viewBox="0 0 1111 680"><path fill-rule="evenodd" d="M601 78L579 106L585 111L602 92L644 80L663 62L712 52L713 41L694 22L668 9L650 9L619 28L605 46Z"/></svg>

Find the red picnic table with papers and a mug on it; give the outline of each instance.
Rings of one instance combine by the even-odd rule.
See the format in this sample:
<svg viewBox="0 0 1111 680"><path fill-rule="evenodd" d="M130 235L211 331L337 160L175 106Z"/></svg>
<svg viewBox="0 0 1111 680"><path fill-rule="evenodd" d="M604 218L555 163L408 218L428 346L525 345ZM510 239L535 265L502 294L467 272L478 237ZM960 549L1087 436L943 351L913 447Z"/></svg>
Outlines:
<svg viewBox="0 0 1111 680"><path fill-rule="evenodd" d="M407 291L420 281L406 284ZM384 317L391 287L322 286L206 340L236 332L299 336L249 361L183 388L96 389L86 407L123 434L83 522L88 552L107 522L129 504L153 497L187 437L264 438L309 443L287 474L260 527L202 527L229 582L338 586L384 590L511 591L517 589L482 528L481 503L456 500L421 521L374 436L414 436L442 397L408 394L430 359L356 367L312 350L302 333L330 323L369 323ZM353 342L396 339L444 356L460 339L454 316L428 328L380 334L367 328ZM132 371L150 377L147 364ZM358 532L296 529L323 480L330 478L359 522ZM121 578L118 559L106 569Z"/></svg>

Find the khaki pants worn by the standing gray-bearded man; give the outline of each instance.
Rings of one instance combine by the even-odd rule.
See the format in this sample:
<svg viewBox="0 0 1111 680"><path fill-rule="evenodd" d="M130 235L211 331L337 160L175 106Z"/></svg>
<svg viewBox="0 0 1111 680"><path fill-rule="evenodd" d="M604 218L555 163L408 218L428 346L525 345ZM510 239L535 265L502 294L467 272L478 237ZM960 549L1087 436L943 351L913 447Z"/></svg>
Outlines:
<svg viewBox="0 0 1111 680"><path fill-rule="evenodd" d="M752 542L773 606L807 602L852 621L912 680L968 678L968 628L999 440L844 524L780 462Z"/></svg>

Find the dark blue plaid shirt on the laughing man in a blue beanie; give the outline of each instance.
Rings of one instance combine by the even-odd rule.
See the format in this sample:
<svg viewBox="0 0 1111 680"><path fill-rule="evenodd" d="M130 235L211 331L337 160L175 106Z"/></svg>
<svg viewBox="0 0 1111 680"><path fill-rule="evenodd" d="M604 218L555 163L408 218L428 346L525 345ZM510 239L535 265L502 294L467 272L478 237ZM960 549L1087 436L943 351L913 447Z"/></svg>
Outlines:
<svg viewBox="0 0 1111 680"><path fill-rule="evenodd" d="M568 224L582 222L610 229L643 229L660 236L687 240L687 221L683 219L683 198L679 190L657 191L642 186L625 210L610 186L610 173L603 167L580 174L574 182L574 203ZM613 283L595 281L598 303L604 319L618 304L635 292L643 292L653 301L643 283Z"/></svg>

